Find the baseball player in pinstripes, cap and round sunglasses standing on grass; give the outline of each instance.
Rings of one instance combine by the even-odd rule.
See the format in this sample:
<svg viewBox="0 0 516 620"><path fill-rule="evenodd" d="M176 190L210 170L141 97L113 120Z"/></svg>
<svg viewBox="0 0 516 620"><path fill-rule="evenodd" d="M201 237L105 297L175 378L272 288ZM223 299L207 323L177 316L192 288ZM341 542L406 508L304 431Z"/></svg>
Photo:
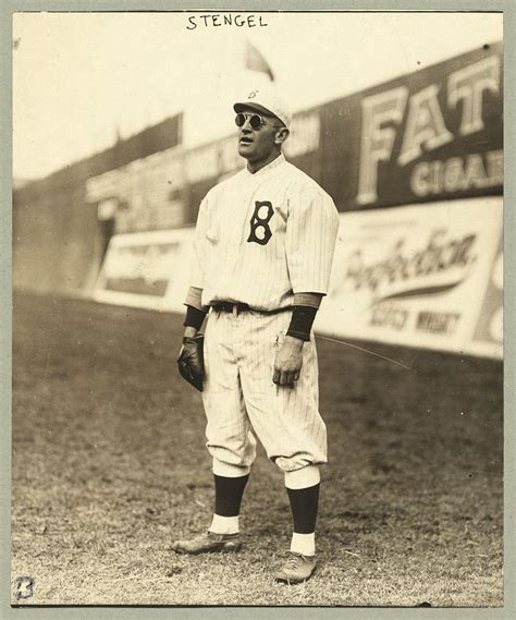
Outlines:
<svg viewBox="0 0 516 620"><path fill-rule="evenodd" d="M247 167L200 205L179 358L202 390L214 513L207 532L173 549L239 549L258 439L284 474L292 509L290 552L275 579L299 583L316 568L319 465L327 462L312 323L328 292L339 218L331 197L282 154L291 113L279 94L260 87L234 110Z"/></svg>

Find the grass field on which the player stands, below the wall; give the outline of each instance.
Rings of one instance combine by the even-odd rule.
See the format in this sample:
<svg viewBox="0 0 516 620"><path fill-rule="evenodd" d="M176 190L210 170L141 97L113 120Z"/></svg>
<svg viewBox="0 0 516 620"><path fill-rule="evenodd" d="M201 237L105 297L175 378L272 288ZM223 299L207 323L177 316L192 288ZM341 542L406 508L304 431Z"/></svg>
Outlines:
<svg viewBox="0 0 516 620"><path fill-rule="evenodd" d="M14 302L13 592L16 576L35 580L24 604L502 605L501 363L366 344L406 370L319 340L320 567L286 586L271 572L290 509L263 452L244 549L170 550L212 510L201 401L176 373L180 317Z"/></svg>

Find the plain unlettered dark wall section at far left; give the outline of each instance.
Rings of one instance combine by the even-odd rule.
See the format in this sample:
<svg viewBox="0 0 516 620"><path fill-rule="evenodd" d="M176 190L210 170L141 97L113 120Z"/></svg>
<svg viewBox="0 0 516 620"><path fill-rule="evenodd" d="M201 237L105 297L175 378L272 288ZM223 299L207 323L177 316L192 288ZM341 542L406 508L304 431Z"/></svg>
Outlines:
<svg viewBox="0 0 516 620"><path fill-rule="evenodd" d="M115 174L137 158L177 148L181 114L111 148L71 163L13 193L13 285L41 293L91 293L112 231L110 204L124 212L120 196L103 203L87 196L88 179ZM181 224L181 218L176 223Z"/></svg>

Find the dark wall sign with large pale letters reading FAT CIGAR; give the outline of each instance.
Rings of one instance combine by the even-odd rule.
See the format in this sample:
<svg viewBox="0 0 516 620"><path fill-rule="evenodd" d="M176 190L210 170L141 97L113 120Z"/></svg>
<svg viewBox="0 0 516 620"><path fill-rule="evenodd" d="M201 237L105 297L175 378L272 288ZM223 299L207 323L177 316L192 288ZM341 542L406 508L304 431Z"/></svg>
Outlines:
<svg viewBox="0 0 516 620"><path fill-rule="evenodd" d="M502 193L501 44L331 101L320 114L318 181L339 210Z"/></svg>

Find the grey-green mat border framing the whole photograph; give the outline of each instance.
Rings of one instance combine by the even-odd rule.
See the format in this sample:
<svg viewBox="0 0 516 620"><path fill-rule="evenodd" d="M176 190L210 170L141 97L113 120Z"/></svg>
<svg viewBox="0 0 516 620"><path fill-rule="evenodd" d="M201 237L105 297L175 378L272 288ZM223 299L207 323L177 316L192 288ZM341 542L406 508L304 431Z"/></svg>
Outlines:
<svg viewBox="0 0 516 620"><path fill-rule="evenodd" d="M513 317L515 312L515 257L512 251L515 243L515 215L512 205L515 197L515 157L514 144L516 141L515 130L515 45L513 33L515 31L514 2L500 0L441 0L419 2L397 0L373 1L323 1L308 2L283 0L273 2L262 0L259 8L250 2L217 2L213 0L167 2L125 0L67 0L67 1L14 1L4 0L1 3L1 76L2 76L2 114L1 114L1 302L2 302L2 330L1 330L1 403L2 403L2 437L0 447L0 490L1 490L1 607L2 618L514 618L516 605L514 586L516 581L514 558L516 548L514 544L514 507L515 507L515 458L514 416L508 413L515 404L514 373L515 373L515 347L514 326L511 319L505 321L504 339L504 377L505 377L505 416L504 416L504 460L505 460L505 508L504 508L504 582L505 601L503 608L174 608L174 607L11 607L11 547L10 547L10 498L11 498L11 313L12 313L12 282L11 282L11 228L12 228L12 14L19 11L177 11L177 10L202 10L213 11L471 11L471 12L504 12L504 61L505 61L505 100L504 100L504 142L505 142L505 169L511 171L505 177L504 184L504 238L505 238L505 288L504 312L506 317ZM509 254L511 252L511 254Z"/></svg>

